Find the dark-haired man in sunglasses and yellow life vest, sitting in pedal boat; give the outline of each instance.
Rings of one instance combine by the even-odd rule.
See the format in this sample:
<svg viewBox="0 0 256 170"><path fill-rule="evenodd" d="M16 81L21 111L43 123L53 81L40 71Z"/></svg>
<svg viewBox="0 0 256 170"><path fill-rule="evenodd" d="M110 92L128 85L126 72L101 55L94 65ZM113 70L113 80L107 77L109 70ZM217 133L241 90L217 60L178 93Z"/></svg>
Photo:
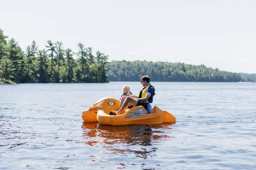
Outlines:
<svg viewBox="0 0 256 170"><path fill-rule="evenodd" d="M148 103L153 102L153 96L155 89L149 84L150 78L148 75L144 75L140 78L141 85L143 88L140 90L139 96L130 95L130 96L122 96L120 101L120 108L118 111L112 111L116 115L120 115L122 110L130 103L132 106L143 106L147 109Z"/></svg>

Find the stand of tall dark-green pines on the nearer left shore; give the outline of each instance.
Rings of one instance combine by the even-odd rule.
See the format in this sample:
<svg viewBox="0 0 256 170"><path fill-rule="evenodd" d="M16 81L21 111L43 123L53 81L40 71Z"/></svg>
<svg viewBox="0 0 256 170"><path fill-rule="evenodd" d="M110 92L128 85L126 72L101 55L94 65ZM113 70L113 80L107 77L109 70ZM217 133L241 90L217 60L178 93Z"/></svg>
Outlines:
<svg viewBox="0 0 256 170"><path fill-rule="evenodd" d="M62 42L47 41L38 49L35 41L24 52L15 39L0 29L0 82L2 83L73 83L107 82L108 55L78 44L78 52L64 49ZM77 59L74 59L77 56Z"/></svg>

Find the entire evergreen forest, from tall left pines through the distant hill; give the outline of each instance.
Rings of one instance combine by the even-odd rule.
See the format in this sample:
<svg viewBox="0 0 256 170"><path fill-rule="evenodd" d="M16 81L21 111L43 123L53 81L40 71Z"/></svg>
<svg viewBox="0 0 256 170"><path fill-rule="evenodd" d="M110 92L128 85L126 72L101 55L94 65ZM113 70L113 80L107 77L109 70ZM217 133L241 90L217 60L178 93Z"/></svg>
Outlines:
<svg viewBox="0 0 256 170"><path fill-rule="evenodd" d="M62 42L46 41L38 49L35 41L23 51L15 39L7 41L0 29L0 83L105 83L139 81L256 82L256 74L233 73L204 65L152 61L111 61L108 55L78 43L76 52Z"/></svg>

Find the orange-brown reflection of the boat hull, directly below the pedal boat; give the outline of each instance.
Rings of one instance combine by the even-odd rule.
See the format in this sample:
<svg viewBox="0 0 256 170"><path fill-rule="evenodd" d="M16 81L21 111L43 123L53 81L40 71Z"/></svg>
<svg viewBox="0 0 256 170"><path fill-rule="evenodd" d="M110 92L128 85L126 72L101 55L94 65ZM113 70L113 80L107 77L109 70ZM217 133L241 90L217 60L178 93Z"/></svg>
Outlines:
<svg viewBox="0 0 256 170"><path fill-rule="evenodd" d="M95 144L117 144L143 145L156 144L160 140L167 140L170 136L172 124L168 125L130 125L130 126L106 126L95 122L83 123L83 137L91 139L86 143Z"/></svg>

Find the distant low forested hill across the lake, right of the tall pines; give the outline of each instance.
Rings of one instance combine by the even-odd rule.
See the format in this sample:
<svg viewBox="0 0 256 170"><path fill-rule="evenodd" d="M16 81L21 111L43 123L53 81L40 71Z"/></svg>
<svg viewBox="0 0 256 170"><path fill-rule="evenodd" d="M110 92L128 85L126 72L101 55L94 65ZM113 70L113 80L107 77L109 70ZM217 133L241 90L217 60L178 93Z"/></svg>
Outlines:
<svg viewBox="0 0 256 170"><path fill-rule="evenodd" d="M111 61L107 77L110 81L138 81L149 75L152 81L238 82L255 81L256 74L220 71L204 65L152 61Z"/></svg>

